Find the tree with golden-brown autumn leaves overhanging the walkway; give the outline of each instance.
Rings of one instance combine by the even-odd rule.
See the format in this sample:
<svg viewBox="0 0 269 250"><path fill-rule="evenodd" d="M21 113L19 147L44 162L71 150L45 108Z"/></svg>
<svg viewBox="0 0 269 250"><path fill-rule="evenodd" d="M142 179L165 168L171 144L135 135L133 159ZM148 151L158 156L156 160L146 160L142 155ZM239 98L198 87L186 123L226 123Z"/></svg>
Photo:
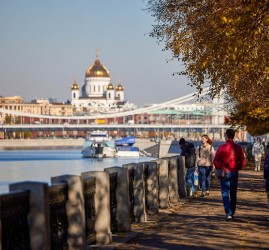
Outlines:
<svg viewBox="0 0 269 250"><path fill-rule="evenodd" d="M269 0L149 0L147 10L150 36L182 62L178 74L198 94L224 90L233 124L269 123Z"/></svg>

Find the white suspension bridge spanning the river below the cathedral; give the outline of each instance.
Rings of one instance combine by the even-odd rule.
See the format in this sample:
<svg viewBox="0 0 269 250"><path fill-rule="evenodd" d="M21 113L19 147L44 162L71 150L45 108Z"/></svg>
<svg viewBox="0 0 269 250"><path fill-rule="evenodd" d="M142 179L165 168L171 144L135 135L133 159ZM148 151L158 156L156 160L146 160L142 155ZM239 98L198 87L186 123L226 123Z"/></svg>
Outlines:
<svg viewBox="0 0 269 250"><path fill-rule="evenodd" d="M200 97L208 94L205 88ZM160 133L173 134L175 137L195 137L194 134L217 135L217 139L223 139L224 131L228 127L224 124L227 115L223 110L223 99L214 99L211 102L197 103L195 93L185 95L170 101L153 104L149 107L118 113L99 113L83 116L50 116L37 115L16 110L1 109L0 113L17 118L15 124L2 124L0 131L4 133L17 131L61 131L62 134L79 136L79 131L107 130L113 131L115 135L119 131L125 131L124 135L141 135L151 131L151 135L163 136ZM184 105L186 109L191 105L199 107L199 112L191 110L180 110ZM159 120L150 120L153 116L159 116ZM161 118L160 118L161 117ZM19 119L18 119L19 118ZM30 122L25 122L25 120ZM148 118L146 121L143 118ZM140 120L138 120L140 119ZM97 121L103 122L97 122ZM56 132L52 135L57 134ZM192 135L192 136L191 136Z"/></svg>

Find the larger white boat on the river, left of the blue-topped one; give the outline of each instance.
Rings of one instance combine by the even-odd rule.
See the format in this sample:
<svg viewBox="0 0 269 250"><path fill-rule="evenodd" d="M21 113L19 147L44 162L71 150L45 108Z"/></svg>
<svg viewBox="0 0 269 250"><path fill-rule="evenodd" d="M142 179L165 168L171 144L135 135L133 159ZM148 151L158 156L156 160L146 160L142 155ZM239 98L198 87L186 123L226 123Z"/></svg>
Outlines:
<svg viewBox="0 0 269 250"><path fill-rule="evenodd" d="M87 135L81 151L83 158L115 157L116 146L106 132L94 131Z"/></svg>

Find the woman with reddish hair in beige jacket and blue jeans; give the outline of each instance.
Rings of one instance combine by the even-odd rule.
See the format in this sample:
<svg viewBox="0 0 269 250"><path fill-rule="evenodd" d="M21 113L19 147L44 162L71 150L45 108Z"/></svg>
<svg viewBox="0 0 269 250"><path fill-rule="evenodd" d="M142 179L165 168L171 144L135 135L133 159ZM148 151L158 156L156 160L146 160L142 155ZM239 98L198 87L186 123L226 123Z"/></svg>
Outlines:
<svg viewBox="0 0 269 250"><path fill-rule="evenodd" d="M213 159L215 150L208 135L202 135L202 145L196 148L195 171L199 172L199 180L202 188L201 197L209 195L211 172L214 170Z"/></svg>

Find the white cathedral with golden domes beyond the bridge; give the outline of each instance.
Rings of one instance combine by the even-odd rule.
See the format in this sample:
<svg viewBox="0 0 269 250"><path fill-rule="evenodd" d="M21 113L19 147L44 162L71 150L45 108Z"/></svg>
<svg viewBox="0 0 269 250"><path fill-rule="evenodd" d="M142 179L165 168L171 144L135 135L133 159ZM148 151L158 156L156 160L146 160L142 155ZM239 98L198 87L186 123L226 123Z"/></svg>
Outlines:
<svg viewBox="0 0 269 250"><path fill-rule="evenodd" d="M112 84L109 71L100 62L98 55L86 70L81 92L75 81L71 87L71 95L75 113L114 113L136 109L133 103L125 100L123 86Z"/></svg>

